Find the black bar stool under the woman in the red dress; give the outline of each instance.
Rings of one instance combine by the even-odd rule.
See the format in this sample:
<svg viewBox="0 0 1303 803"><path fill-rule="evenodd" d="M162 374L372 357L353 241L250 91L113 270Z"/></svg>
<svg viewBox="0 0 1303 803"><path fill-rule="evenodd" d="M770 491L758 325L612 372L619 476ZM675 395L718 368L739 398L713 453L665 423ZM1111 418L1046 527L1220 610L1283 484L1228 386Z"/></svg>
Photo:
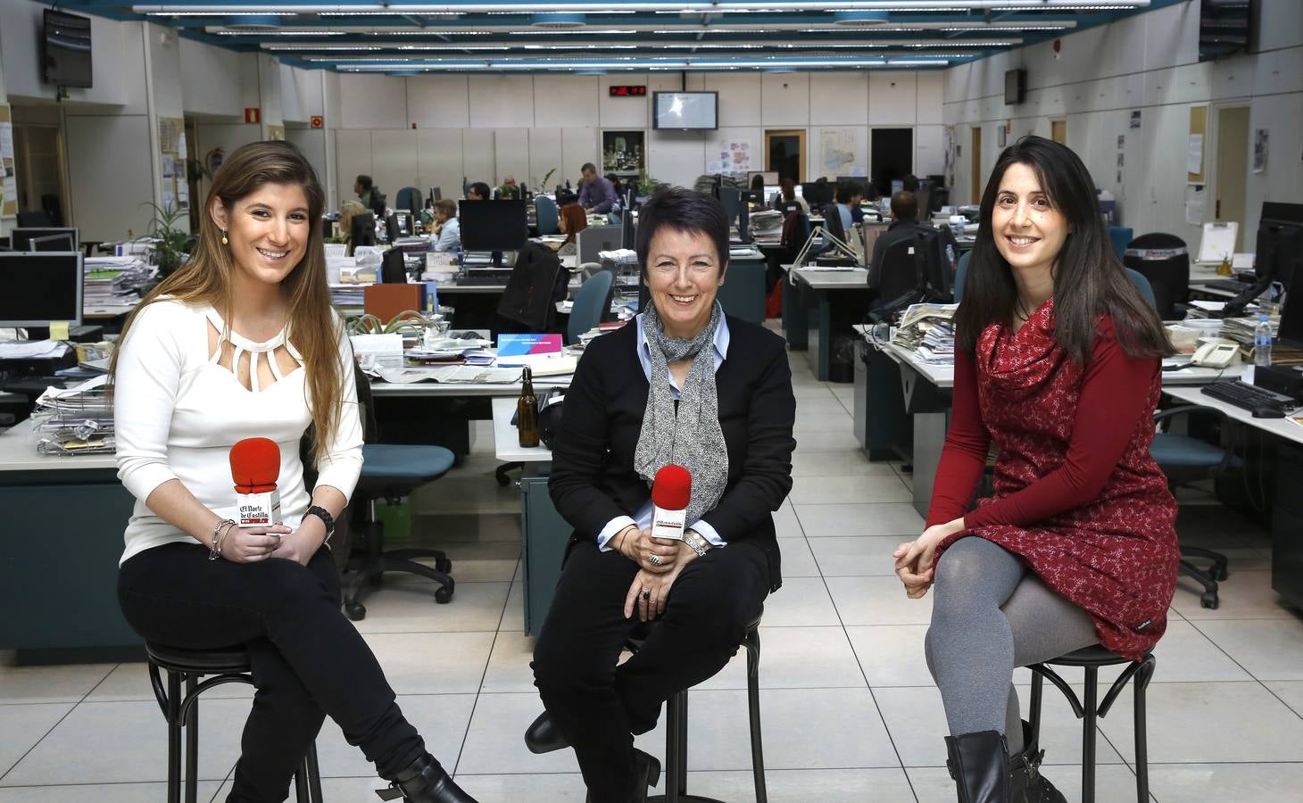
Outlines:
<svg viewBox="0 0 1303 803"><path fill-rule="evenodd" d="M1081 734L1081 803L1095 803L1095 743L1096 718L1108 716L1113 703L1126 688L1126 684L1135 678L1132 700L1135 703L1135 739L1136 739L1136 800L1147 803L1149 800L1149 744L1145 737L1145 688L1153 678L1156 658L1152 652L1147 652L1139 661L1123 658L1122 656L1105 649L1102 645L1085 647L1070 652L1044 664L1028 666L1032 670L1032 744L1040 744L1041 737L1041 688L1042 680L1048 679L1058 687L1067 697L1068 705L1078 720L1085 720ZM1109 692L1104 695L1104 703L1098 700L1098 679L1101 666L1117 666L1126 664L1118 679L1113 682ZM1072 687L1067 684L1050 666L1080 666L1085 670L1085 700L1080 700Z"/></svg>

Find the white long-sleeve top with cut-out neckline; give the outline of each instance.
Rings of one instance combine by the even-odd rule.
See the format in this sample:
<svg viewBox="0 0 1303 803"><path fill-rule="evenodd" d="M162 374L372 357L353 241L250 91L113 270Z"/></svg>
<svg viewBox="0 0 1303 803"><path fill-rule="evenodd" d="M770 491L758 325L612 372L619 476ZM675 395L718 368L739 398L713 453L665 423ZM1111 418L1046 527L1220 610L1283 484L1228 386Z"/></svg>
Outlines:
<svg viewBox="0 0 1303 803"><path fill-rule="evenodd" d="M168 480L180 480L223 519L238 519L229 452L244 438L271 438L280 446L276 486L284 524L297 529L310 504L298 459L300 438L311 421L305 369L278 375L275 349L284 347L300 365L302 358L284 330L262 343L232 331L233 365L240 364L241 352L249 352L250 374L257 375L257 361L263 358L278 375L265 388L254 379L254 390L249 390L218 364L222 344L208 353L210 327L219 334L225 330L211 306L158 301L141 310L119 345L113 395L117 477L136 497L120 563L154 546L193 541L145 506L154 489ZM343 326L339 328L343 407L326 455L318 460L317 485L336 488L348 498L362 468L362 424L352 349Z"/></svg>

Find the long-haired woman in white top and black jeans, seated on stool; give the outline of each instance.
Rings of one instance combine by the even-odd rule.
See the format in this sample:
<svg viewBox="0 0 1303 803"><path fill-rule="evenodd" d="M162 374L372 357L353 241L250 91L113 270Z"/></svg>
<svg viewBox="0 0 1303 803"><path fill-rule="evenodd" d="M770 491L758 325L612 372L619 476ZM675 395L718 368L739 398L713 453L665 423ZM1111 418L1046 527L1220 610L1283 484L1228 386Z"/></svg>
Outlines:
<svg viewBox="0 0 1303 803"><path fill-rule="evenodd" d="M327 541L362 465L349 344L330 305L324 194L293 145L236 150L214 177L195 254L128 321L113 365L117 465L136 495L119 568L147 640L245 644L257 687L232 802L284 800L326 716L407 800L474 803L425 750L339 610ZM309 497L298 445L310 424ZM228 455L280 447L280 521L240 528Z"/></svg>

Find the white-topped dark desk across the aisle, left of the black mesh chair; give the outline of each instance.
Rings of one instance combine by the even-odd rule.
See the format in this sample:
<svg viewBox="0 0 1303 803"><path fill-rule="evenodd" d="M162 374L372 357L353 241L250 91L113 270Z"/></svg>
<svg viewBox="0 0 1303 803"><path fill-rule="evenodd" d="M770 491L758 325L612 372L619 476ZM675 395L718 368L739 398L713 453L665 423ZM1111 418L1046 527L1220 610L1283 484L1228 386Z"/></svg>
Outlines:
<svg viewBox="0 0 1303 803"><path fill-rule="evenodd" d="M796 278L803 305L813 312L807 321L805 356L810 370L821 382L850 382L851 377L833 378L833 339L853 336L851 326L869 310L869 271L863 267L848 271L788 267L788 271ZM787 308L786 295L783 308Z"/></svg>

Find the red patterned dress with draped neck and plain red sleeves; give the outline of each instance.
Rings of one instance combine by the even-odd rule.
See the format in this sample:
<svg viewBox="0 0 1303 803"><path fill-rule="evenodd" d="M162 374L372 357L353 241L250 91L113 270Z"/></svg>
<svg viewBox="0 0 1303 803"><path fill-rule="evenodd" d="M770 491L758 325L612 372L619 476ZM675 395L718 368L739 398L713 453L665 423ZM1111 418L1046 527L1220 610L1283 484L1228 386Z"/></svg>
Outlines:
<svg viewBox="0 0 1303 803"><path fill-rule="evenodd" d="M1131 358L1101 318L1091 360L1054 339L1050 299L1016 332L988 326L955 353L954 409L928 525L967 531L1023 561L1085 609L1100 643L1128 658L1167 627L1177 587L1177 503L1149 456L1160 394L1154 357ZM966 514L992 439L995 495Z"/></svg>

